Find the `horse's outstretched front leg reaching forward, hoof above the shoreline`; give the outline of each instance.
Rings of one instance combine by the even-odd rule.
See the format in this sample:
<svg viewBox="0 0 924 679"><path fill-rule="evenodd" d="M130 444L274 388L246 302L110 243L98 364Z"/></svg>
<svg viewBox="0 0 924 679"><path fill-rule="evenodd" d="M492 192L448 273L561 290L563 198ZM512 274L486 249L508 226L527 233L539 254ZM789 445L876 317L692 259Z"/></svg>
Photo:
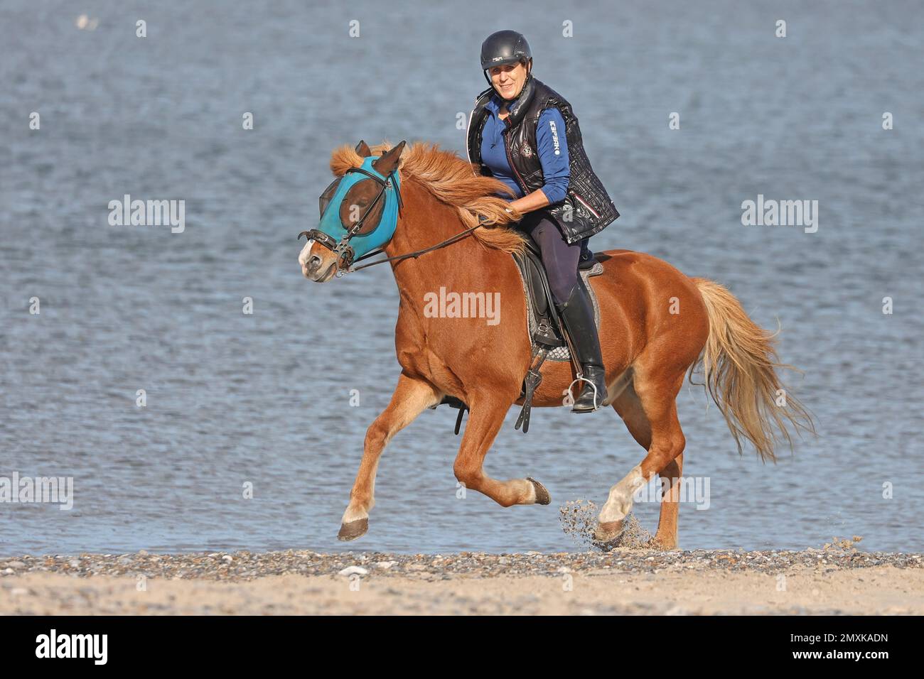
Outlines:
<svg viewBox="0 0 924 679"><path fill-rule="evenodd" d="M426 408L442 399L443 394L430 382L401 373L391 402L366 430L362 462L341 519L339 540L355 540L369 530L369 512L375 504L375 472L385 445Z"/></svg>

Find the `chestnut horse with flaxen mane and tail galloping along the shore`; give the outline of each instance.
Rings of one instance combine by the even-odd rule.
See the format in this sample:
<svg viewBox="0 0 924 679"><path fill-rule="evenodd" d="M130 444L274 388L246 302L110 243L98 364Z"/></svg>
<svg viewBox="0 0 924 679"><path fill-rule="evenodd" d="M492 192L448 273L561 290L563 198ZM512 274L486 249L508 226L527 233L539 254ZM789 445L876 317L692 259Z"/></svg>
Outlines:
<svg viewBox="0 0 924 679"><path fill-rule="evenodd" d="M383 448L427 407L444 395L468 405L469 416L453 470L466 488L496 503L548 504L549 492L534 479L492 479L484 457L514 404L529 370L531 346L523 284L511 252L522 249L523 236L505 226L522 215L505 212L511 195L499 180L475 175L473 166L455 152L425 143L373 151L360 141L334 151L331 170L344 176L367 157L388 176L397 169L403 209L385 255L428 248L473 229L450 245L414 259L391 261L400 293L395 348L401 374L395 393L366 431L359 473L350 491L339 538L353 540L369 529L375 503L375 474ZM357 205L372 205L371 224L382 202L372 199L381 182L362 179L346 194L340 210L346 227L359 219ZM492 195L493 194L493 195ZM479 220L486 222L478 227ZM477 228L476 228L477 227ZM370 223L362 226L363 231ZM691 278L665 261L625 249L597 253L603 273L590 278L600 303L600 342L609 401L646 455L609 491L594 533L598 544L614 545L623 532L635 491L654 475L662 479L661 514L651 546L677 544L677 511L683 471L684 433L677 420L676 396L687 371L701 369L703 383L719 406L738 452L741 440L753 444L766 461L774 447L792 447L787 427L814 432L807 410L784 392L777 375L775 333L748 318L740 302L722 285ZM320 242L309 241L298 258L302 273L324 283L338 270L337 256ZM359 273L358 273L359 275ZM469 315L446 318L425 313L427 299L440 287L456 293L500 293L499 322ZM496 296L495 296L496 298ZM448 314L444 314L448 315ZM546 362L533 406L562 406L563 393L575 379L569 362ZM581 425L587 423L580 419Z"/></svg>

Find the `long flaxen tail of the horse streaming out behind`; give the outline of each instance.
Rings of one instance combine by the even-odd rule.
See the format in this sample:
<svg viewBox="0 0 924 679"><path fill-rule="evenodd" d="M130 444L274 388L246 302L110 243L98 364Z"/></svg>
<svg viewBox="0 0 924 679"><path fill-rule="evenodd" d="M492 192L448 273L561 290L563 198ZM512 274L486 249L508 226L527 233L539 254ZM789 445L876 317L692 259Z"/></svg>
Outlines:
<svg viewBox="0 0 924 679"><path fill-rule="evenodd" d="M800 429L815 433L808 410L786 393L777 375L777 369L801 371L776 361L779 328L769 333L751 321L724 285L706 278L692 280L709 314L709 339L687 379L697 383L693 371L702 367L703 385L732 431L739 455L743 437L753 443L761 460L775 462L777 443L784 440L792 451L789 426L800 437Z"/></svg>

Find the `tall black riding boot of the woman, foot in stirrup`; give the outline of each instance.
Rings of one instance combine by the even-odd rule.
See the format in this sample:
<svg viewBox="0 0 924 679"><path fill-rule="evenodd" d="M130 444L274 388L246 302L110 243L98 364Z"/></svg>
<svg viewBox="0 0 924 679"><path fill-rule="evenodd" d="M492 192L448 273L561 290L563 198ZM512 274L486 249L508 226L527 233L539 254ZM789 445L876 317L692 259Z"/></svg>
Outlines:
<svg viewBox="0 0 924 679"><path fill-rule="evenodd" d="M603 372L600 337L593 323L593 304L579 276L571 297L568 297L565 304L556 304L555 309L558 309L558 315L565 321L584 380L590 381L581 380L575 384L575 405L571 412L593 412L606 401L606 376Z"/></svg>

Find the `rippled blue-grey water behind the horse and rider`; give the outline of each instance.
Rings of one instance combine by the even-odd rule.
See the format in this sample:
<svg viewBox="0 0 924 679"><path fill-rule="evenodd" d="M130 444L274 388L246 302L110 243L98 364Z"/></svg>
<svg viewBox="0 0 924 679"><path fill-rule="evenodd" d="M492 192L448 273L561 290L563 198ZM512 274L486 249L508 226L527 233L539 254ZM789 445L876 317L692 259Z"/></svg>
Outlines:
<svg viewBox="0 0 924 679"><path fill-rule="evenodd" d="M383 455L370 534L335 540L397 379L398 300L386 267L310 284L296 235L335 145L425 139L464 154L456 115L485 86L480 42L508 25L573 103L623 213L591 245L728 285L755 321L779 319L781 358L805 370L790 382L820 437L775 466L739 457L685 386L685 472L711 479L711 502L681 507L681 547L861 535L866 549L924 549L919 5L599 3L550 21L551 8L498 21L488 2L4 0L0 476L73 476L75 507L0 505L0 554L583 549L557 507L602 502L643 455L611 411L543 408L524 436L512 409L487 470L541 479L553 504L511 509L456 499L456 411L427 411ZM75 26L84 13L96 30ZM185 199L186 231L108 225L126 193ZM818 232L742 226L741 201L759 193L819 200ZM657 506L636 515L653 530Z"/></svg>

